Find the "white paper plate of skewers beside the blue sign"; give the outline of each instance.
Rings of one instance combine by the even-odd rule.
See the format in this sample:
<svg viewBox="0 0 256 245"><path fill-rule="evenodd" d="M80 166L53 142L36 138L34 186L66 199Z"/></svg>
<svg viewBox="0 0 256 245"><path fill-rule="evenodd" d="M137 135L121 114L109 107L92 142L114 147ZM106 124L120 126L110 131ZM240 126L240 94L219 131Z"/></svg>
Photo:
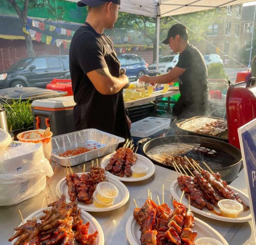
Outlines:
<svg viewBox="0 0 256 245"><path fill-rule="evenodd" d="M242 201L244 201L247 205L249 205L249 197L245 193L241 192L240 190L238 190L238 189L236 189L232 186L229 186L229 187L235 193L238 193L238 195L239 195L239 197ZM176 200L180 200L180 197L182 195L182 191L181 191L181 186L178 184L177 180L175 180L171 184L170 192ZM188 207L188 205L189 205L188 199L186 199L185 197L183 197L182 203L186 207ZM195 207L190 205L190 209L193 210L195 213L201 214L205 217L209 217L209 218L217 219L217 220L222 220L222 221L226 221L226 222L237 222L237 223L239 223L239 222L247 222L247 221L250 221L252 219L252 214L251 214L250 209L241 213L238 218L228 218L228 217L218 216L218 215L213 214L212 212L210 212L206 207L204 207L202 210L200 210L200 209L195 208ZM218 213L220 212L218 208L214 207L214 209Z"/></svg>

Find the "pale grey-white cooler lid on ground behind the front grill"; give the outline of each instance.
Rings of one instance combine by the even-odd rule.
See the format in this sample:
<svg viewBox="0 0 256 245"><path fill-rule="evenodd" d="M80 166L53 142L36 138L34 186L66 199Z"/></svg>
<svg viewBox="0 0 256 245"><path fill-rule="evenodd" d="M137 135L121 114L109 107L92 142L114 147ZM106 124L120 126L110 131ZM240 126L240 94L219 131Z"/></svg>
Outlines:
<svg viewBox="0 0 256 245"><path fill-rule="evenodd" d="M131 124L131 136L145 138L170 127L170 118L147 117Z"/></svg>

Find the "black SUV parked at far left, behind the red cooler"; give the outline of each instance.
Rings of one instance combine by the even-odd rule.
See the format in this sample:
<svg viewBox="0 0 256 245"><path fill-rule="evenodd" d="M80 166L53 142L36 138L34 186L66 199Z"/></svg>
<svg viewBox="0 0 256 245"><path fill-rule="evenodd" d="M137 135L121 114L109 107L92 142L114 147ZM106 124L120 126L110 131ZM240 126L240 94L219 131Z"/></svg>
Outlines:
<svg viewBox="0 0 256 245"><path fill-rule="evenodd" d="M68 55L48 55L19 60L0 72L0 88L45 88L53 78L70 79Z"/></svg>

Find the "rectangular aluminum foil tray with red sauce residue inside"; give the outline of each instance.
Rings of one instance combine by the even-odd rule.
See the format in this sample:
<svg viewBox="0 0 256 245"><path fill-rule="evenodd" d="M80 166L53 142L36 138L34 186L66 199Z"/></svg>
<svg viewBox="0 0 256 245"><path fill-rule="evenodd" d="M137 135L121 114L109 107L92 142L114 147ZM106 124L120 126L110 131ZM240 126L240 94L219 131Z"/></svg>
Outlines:
<svg viewBox="0 0 256 245"><path fill-rule="evenodd" d="M84 129L58 135L52 138L52 160L61 166L75 166L112 153L122 142L124 142L123 138L97 129ZM67 150L74 150L78 147L91 148L92 150L75 156L58 156Z"/></svg>

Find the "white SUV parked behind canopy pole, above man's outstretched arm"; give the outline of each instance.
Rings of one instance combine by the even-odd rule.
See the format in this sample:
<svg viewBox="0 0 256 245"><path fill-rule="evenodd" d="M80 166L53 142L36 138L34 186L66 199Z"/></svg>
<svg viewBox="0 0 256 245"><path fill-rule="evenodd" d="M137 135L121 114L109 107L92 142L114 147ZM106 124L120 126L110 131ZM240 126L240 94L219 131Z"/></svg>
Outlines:
<svg viewBox="0 0 256 245"><path fill-rule="evenodd" d="M176 66L179 55L167 55L159 58L159 74L164 74ZM156 75L156 62L148 66L149 75Z"/></svg>

